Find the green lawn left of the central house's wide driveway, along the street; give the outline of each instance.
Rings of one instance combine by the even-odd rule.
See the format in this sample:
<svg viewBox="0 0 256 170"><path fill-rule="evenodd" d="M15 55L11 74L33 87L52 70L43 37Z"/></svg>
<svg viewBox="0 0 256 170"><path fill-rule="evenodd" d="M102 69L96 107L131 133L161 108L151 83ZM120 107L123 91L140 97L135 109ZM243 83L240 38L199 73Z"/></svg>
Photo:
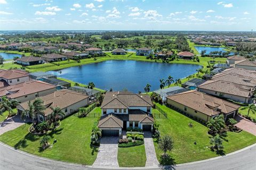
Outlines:
<svg viewBox="0 0 256 170"><path fill-rule="evenodd" d="M92 126L98 116L78 118L71 115L61 121L59 128L49 133L50 143L57 142L50 149L39 151L39 141L42 136L28 133L29 124L6 132L0 136L0 141L30 154L62 160L65 162L92 165L97 157L98 149L90 147Z"/></svg>

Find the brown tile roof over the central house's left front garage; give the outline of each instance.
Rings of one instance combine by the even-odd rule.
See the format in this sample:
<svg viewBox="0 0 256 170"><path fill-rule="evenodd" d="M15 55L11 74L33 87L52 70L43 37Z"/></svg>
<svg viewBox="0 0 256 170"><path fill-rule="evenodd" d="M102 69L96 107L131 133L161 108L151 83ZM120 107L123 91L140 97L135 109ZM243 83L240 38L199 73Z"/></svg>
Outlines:
<svg viewBox="0 0 256 170"><path fill-rule="evenodd" d="M123 128L123 121L115 114L102 116L98 128Z"/></svg>

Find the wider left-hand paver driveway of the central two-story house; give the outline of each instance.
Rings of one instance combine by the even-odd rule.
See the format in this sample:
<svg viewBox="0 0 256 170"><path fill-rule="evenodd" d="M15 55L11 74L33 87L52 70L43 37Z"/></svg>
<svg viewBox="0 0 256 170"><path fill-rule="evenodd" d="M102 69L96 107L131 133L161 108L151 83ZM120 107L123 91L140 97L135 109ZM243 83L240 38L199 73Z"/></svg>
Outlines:
<svg viewBox="0 0 256 170"><path fill-rule="evenodd" d="M117 160L118 137L102 137L98 156L92 166L119 167Z"/></svg>

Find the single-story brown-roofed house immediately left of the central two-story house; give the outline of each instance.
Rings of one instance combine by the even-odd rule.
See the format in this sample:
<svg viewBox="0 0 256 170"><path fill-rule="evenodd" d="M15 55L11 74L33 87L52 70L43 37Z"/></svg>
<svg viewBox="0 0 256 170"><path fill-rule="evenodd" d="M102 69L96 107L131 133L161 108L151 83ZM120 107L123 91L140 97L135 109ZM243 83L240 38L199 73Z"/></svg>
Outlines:
<svg viewBox="0 0 256 170"><path fill-rule="evenodd" d="M38 122L43 122L47 120L47 116L52 113L52 108L60 107L61 111L67 116L78 111L79 108L87 106L89 97L74 91L62 89L39 98L43 100L46 109L42 115L38 114L35 115L35 117ZM30 102L33 103L34 100L31 100ZM21 103L17 106L17 109L19 114L22 113L22 111L29 109L28 102Z"/></svg>

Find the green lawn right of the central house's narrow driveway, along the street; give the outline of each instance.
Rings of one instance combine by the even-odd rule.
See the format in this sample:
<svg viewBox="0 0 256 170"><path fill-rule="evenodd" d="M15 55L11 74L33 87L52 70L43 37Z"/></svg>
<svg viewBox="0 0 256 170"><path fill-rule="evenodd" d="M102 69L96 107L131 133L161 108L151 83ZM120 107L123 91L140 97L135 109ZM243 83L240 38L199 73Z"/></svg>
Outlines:
<svg viewBox="0 0 256 170"><path fill-rule="evenodd" d="M206 126L191 120L190 118L173 111L172 109L161 106L168 118L155 117L155 121L159 124L161 135L170 135L174 140L174 148L169 152L173 160L163 162L161 155L163 151L158 149L157 141L154 140L156 155L159 162L163 164L181 164L186 162L194 162L197 160L207 159L219 156L216 152L211 151L210 138L207 134ZM193 128L189 128L188 124L192 123ZM194 142L196 141L196 145ZM223 141L223 149L225 154L250 146L256 142L256 137L248 132L240 133L227 132L227 137Z"/></svg>

